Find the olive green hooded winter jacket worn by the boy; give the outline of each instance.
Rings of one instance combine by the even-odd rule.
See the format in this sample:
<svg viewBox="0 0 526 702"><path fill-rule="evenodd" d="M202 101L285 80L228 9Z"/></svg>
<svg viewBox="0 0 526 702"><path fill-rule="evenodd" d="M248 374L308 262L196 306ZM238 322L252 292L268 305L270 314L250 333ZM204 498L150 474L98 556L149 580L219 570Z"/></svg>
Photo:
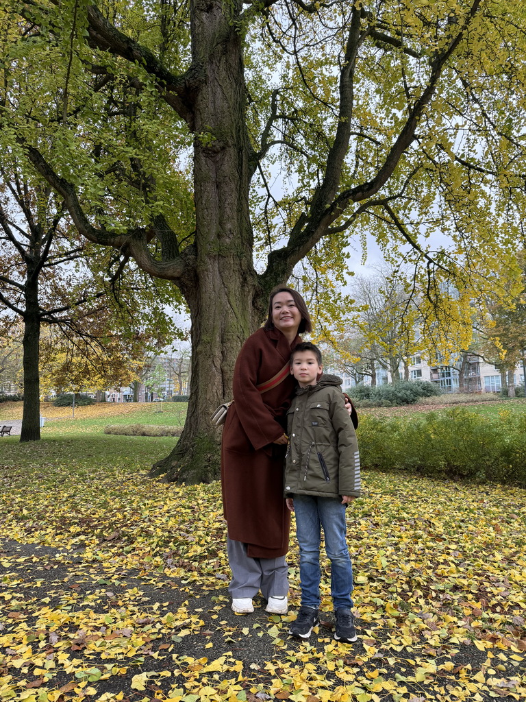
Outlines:
<svg viewBox="0 0 526 702"><path fill-rule="evenodd" d="M285 496L360 496L358 442L337 376L297 388L288 411Z"/></svg>

